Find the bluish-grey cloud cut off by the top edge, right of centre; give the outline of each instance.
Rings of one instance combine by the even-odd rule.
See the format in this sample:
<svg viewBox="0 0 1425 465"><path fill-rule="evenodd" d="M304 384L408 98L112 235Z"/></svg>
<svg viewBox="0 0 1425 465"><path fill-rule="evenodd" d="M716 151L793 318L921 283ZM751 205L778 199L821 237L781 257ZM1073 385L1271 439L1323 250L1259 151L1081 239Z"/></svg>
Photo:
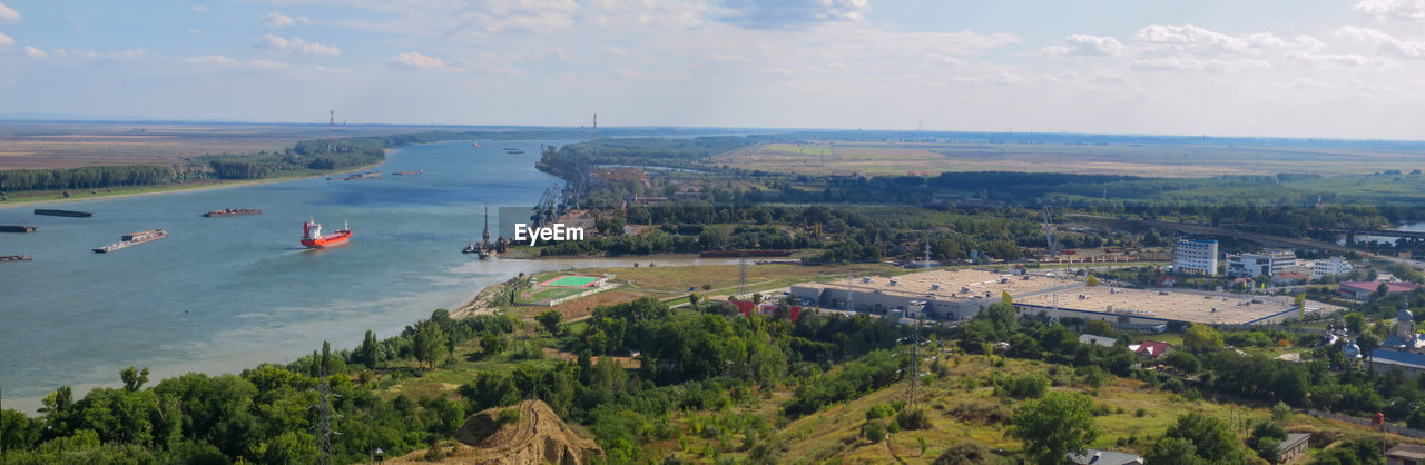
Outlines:
<svg viewBox="0 0 1425 465"><path fill-rule="evenodd" d="M727 0L724 21L748 28L797 28L818 23L861 21L869 0Z"/></svg>

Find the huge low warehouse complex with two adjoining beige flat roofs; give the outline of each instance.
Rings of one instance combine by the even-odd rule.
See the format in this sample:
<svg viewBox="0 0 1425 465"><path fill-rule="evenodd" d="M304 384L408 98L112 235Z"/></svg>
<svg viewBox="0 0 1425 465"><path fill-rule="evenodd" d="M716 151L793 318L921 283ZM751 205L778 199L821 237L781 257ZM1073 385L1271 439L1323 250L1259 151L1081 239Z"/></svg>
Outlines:
<svg viewBox="0 0 1425 465"><path fill-rule="evenodd" d="M1006 274L986 270L933 270L898 277L855 277L791 287L798 299L824 309L942 321L969 320L1007 292L1023 314L1104 320L1133 326L1170 321L1220 326L1275 324L1297 319L1290 296L1204 293L1181 289L1087 287L1079 279ZM1056 307L1057 303L1057 307ZM1307 311L1340 307L1315 301Z"/></svg>

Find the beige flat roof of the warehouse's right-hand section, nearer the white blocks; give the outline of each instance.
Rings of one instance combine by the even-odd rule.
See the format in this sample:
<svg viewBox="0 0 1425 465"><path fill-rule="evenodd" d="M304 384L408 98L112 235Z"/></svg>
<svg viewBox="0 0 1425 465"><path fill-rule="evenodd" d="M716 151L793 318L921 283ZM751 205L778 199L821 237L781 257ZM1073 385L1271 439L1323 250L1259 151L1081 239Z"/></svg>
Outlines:
<svg viewBox="0 0 1425 465"><path fill-rule="evenodd" d="M1052 307L1053 296L1037 294L1015 303ZM1206 324L1247 324L1294 310L1291 296L1228 294L1183 289L1079 287L1059 292L1059 309L1153 317ZM1307 301L1308 311L1335 311L1337 306Z"/></svg>

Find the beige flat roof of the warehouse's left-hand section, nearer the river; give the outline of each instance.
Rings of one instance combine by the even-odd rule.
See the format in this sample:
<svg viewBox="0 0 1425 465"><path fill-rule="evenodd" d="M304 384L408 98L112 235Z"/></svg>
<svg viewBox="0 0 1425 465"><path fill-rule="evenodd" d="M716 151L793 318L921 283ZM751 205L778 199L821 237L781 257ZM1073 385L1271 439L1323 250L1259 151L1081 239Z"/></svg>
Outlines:
<svg viewBox="0 0 1425 465"><path fill-rule="evenodd" d="M804 283L797 286L838 290L848 287L845 279L831 283ZM1033 296L1053 289L1074 286L1083 286L1083 282L1040 274L1012 274L966 269L932 270L896 277L852 277L849 284L856 292L879 290L882 294L936 300L1000 299L1000 293L1003 292L1009 292L1010 296L1019 299L1020 296Z"/></svg>

